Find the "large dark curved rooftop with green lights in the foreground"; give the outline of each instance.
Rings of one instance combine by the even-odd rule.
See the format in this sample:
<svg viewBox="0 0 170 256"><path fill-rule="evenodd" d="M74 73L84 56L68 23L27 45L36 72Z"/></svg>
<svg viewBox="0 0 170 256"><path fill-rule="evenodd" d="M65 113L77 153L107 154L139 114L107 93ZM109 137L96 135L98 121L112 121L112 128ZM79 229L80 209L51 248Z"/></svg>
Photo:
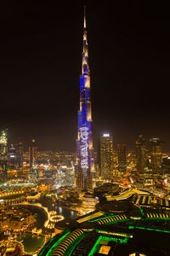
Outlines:
<svg viewBox="0 0 170 256"><path fill-rule="evenodd" d="M170 212L136 207L127 201L110 201L107 207L111 207L110 211L95 211L56 224L57 230L64 231L48 241L39 256L170 253Z"/></svg>

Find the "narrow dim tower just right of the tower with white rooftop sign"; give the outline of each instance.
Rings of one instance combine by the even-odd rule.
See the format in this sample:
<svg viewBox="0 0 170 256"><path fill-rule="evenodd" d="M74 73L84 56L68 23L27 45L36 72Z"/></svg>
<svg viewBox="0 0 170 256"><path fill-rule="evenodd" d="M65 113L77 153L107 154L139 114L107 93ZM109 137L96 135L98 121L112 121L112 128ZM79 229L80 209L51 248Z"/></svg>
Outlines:
<svg viewBox="0 0 170 256"><path fill-rule="evenodd" d="M123 175L127 170L127 150L126 144L118 144L118 170Z"/></svg>

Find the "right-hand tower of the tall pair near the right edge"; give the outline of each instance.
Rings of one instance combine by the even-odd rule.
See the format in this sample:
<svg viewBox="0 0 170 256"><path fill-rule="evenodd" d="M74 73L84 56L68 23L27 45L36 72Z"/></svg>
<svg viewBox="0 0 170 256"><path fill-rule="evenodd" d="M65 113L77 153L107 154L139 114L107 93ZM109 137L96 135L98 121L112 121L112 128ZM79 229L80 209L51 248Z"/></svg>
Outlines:
<svg viewBox="0 0 170 256"><path fill-rule="evenodd" d="M150 139L150 163L153 174L161 173L161 140L159 138Z"/></svg>

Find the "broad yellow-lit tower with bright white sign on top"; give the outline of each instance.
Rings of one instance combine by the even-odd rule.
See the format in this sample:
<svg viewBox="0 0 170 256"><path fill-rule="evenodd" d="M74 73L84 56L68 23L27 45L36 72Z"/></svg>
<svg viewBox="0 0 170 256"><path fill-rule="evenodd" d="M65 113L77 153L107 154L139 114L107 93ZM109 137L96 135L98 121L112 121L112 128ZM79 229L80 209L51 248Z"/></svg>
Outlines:
<svg viewBox="0 0 170 256"><path fill-rule="evenodd" d="M113 177L113 137L103 134L99 140L100 176L104 180Z"/></svg>

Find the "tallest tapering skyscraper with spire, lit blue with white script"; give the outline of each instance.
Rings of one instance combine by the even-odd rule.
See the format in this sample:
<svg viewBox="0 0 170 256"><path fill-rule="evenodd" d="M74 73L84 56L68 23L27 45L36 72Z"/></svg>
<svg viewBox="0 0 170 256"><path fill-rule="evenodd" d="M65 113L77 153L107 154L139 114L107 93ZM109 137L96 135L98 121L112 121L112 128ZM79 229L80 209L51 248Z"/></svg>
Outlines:
<svg viewBox="0 0 170 256"><path fill-rule="evenodd" d="M78 111L77 131L77 188L94 188L94 155L92 133L92 108L90 91L90 71L88 67L88 40L86 14L84 9L82 74L80 76L80 110Z"/></svg>

